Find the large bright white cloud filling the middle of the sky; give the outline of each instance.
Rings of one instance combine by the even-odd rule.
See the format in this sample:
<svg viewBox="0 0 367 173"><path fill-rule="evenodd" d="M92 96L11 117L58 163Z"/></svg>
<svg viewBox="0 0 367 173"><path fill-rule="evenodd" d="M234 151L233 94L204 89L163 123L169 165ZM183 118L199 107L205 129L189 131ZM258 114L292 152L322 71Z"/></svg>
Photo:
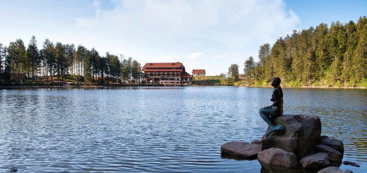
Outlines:
<svg viewBox="0 0 367 173"><path fill-rule="evenodd" d="M256 60L261 44L274 43L300 22L281 0L113 2L112 10L101 10L94 1L95 17L75 20L82 44L132 56L142 64L182 61L187 69L201 64L209 74L219 74L231 63L242 66L250 55ZM108 49L117 45L124 52Z"/></svg>

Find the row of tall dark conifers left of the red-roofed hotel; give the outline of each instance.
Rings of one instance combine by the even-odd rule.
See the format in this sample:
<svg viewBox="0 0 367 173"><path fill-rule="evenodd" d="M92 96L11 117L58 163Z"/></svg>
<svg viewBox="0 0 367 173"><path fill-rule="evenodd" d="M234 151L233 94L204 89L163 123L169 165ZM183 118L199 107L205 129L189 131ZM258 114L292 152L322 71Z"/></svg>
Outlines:
<svg viewBox="0 0 367 173"><path fill-rule="evenodd" d="M141 64L132 57L125 59L122 54L117 56L109 52L101 56L94 48L54 44L48 39L39 49L34 36L27 48L21 39L10 42L9 46L0 43L0 70L9 76L18 74L18 78L20 73L26 73L29 79L57 78L86 83L139 82L143 75Z"/></svg>

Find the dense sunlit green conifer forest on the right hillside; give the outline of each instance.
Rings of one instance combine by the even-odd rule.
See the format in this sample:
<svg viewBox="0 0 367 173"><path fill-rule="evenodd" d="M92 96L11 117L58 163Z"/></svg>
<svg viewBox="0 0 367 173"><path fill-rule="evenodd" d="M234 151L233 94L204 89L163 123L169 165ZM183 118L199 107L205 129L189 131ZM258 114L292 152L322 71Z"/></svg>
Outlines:
<svg viewBox="0 0 367 173"><path fill-rule="evenodd" d="M267 85L279 76L290 85L367 86L367 17L295 30L272 47L261 45L258 58L244 62L246 84ZM232 64L228 74L238 79L238 66Z"/></svg>

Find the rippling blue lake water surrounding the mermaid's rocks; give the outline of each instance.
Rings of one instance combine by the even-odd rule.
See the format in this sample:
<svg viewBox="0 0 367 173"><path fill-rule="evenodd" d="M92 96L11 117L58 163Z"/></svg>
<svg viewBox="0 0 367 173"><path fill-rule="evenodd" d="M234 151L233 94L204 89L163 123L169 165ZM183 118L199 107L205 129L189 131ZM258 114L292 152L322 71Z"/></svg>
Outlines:
<svg viewBox="0 0 367 173"><path fill-rule="evenodd" d="M317 115L322 135L367 172L367 90L283 89L284 113ZM259 172L221 158L261 138L272 89L245 87L0 90L0 172Z"/></svg>

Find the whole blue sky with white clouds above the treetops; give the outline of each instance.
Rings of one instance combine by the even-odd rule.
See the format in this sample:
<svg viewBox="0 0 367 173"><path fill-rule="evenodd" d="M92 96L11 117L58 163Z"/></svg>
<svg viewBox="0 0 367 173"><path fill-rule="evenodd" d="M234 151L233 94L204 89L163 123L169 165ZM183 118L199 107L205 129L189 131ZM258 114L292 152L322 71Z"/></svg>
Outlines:
<svg viewBox="0 0 367 173"><path fill-rule="evenodd" d="M186 71L228 71L264 43L321 22L357 21L367 1L0 0L0 43L35 36L133 57L142 65L182 62Z"/></svg>

